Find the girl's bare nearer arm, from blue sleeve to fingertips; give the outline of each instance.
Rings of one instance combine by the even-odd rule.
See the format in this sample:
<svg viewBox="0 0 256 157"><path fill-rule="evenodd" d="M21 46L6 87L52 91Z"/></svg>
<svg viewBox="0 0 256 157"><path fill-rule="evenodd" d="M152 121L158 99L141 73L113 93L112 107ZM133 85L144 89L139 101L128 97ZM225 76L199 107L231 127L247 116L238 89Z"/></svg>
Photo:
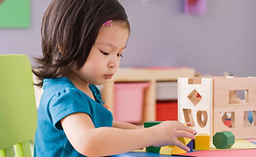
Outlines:
<svg viewBox="0 0 256 157"><path fill-rule="evenodd" d="M80 154L106 156L122 154L142 147L176 145L189 151L177 137L195 139L193 129L177 121L139 129L95 128L86 113L73 113L60 120L68 140Z"/></svg>

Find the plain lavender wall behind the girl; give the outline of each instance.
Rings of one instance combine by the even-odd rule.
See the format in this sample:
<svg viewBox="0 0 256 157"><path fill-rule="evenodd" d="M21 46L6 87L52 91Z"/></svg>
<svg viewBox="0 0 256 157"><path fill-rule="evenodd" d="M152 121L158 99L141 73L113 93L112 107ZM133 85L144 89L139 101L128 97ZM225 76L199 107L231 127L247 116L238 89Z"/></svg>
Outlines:
<svg viewBox="0 0 256 157"><path fill-rule="evenodd" d="M51 0L31 0L28 28L0 28L0 54L41 54L40 25ZM132 33L121 67L195 68L202 75L256 76L256 1L208 0L203 15L184 0L119 0Z"/></svg>

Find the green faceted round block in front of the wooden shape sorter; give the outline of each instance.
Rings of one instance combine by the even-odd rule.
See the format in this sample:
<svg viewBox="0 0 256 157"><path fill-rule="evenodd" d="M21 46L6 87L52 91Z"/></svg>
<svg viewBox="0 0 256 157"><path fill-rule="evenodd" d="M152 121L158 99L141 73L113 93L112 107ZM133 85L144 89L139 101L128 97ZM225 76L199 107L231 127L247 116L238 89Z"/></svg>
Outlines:
<svg viewBox="0 0 256 157"><path fill-rule="evenodd" d="M231 132L217 132L213 136L213 145L217 147L217 149L231 148L234 145L234 143L235 136Z"/></svg>

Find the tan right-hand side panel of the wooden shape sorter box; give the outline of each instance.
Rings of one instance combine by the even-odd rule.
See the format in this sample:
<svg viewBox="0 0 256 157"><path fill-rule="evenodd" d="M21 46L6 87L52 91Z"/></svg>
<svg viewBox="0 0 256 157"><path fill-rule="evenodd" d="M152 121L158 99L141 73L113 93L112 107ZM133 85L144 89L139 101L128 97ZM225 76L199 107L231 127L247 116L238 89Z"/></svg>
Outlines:
<svg viewBox="0 0 256 157"><path fill-rule="evenodd" d="M244 99L238 97L239 91L245 93ZM231 131L238 139L256 137L256 78L216 78L213 99L214 133ZM252 123L248 112L252 112ZM224 125L224 115L231 119L230 127Z"/></svg>

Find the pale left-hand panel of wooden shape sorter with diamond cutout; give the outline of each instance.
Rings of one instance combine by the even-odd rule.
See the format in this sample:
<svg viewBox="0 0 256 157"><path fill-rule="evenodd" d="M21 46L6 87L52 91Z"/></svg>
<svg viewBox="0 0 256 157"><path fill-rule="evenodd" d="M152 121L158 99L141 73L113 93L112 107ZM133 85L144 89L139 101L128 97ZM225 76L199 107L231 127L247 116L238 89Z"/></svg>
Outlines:
<svg viewBox="0 0 256 157"><path fill-rule="evenodd" d="M178 78L178 119L194 123L198 133L211 134L212 78L201 78L200 83L191 84L189 79L193 78Z"/></svg>

